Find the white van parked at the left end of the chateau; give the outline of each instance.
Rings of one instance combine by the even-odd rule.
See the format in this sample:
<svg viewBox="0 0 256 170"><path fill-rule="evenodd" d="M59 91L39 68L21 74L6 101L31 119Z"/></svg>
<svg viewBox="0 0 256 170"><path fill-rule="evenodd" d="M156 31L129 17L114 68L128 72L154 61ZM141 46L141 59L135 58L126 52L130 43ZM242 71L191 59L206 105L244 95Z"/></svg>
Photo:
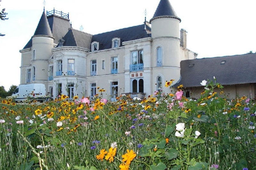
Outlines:
<svg viewBox="0 0 256 170"><path fill-rule="evenodd" d="M24 101L28 98L43 101L45 97L46 89L44 84L19 85L12 94L12 98L15 101Z"/></svg>

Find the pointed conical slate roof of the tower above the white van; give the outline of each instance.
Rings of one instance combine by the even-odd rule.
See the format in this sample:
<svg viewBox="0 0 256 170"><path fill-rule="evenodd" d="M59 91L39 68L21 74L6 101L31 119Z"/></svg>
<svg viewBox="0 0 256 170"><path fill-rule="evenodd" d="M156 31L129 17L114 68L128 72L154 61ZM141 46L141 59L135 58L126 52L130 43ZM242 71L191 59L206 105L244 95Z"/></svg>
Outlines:
<svg viewBox="0 0 256 170"><path fill-rule="evenodd" d="M40 21L36 27L36 31L34 33L34 36L35 35L45 35L45 36L49 36L49 37L52 37L52 31L51 31L51 28L49 26L49 23L48 23L48 20L47 20L47 17L43 11L43 14L40 18Z"/></svg>

